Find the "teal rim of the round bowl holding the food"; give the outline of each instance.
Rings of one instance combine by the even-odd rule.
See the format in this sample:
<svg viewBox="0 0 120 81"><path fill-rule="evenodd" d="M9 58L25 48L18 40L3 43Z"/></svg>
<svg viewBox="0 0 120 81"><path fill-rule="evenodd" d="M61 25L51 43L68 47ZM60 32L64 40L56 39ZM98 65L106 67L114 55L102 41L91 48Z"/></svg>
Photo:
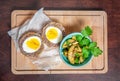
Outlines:
<svg viewBox="0 0 120 81"><path fill-rule="evenodd" d="M63 39L62 39L62 41L61 41L61 43L60 43L60 47L59 47L59 55L60 55L60 58L62 59L62 61L65 63L65 64L67 64L68 66L71 66L71 67L74 67L74 68L79 68L79 67L83 67L83 66L85 66L85 65L87 65L87 64L89 64L91 61L92 61L92 59L93 59L93 55L91 55L91 57L90 57L90 59L88 60L88 62L86 62L85 64L82 64L82 65L74 65L74 64L70 64L70 63L67 63L66 61L65 61L65 59L63 58L63 54L62 54L62 45L63 45L63 43L64 43L64 41L65 40L67 40L68 38L71 38L72 36L74 36L74 35L81 35L81 36L83 36L82 35L82 33L81 32L73 32L73 33L70 33L70 34L68 34L68 35L66 35ZM91 40L91 38L90 37L88 37L87 36L87 38L90 40L90 42L92 42L92 40Z"/></svg>

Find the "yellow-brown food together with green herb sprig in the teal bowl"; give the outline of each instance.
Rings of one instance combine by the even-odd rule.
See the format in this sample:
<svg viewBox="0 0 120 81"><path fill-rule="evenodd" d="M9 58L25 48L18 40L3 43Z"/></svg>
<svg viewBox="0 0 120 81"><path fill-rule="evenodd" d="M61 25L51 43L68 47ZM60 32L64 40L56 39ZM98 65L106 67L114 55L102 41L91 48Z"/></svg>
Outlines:
<svg viewBox="0 0 120 81"><path fill-rule="evenodd" d="M92 32L92 29L86 26L81 35L72 36L63 43L63 54L71 64L83 63L90 54L95 57L102 54L103 51L97 46L97 42L89 39Z"/></svg>

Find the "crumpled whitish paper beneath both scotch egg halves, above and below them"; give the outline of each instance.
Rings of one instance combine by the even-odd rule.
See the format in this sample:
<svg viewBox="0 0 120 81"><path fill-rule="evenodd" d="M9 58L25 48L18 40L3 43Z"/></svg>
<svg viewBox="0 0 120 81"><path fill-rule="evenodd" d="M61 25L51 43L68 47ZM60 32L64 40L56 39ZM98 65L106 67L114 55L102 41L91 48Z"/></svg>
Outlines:
<svg viewBox="0 0 120 81"><path fill-rule="evenodd" d="M14 40L17 51L19 51L18 40L25 32L33 30L41 33L42 27L44 27L49 22L51 22L51 19L44 14L43 8L41 8L31 19L27 20L22 26L15 27L14 29L8 31L9 36L11 36L11 38ZM48 70L60 64L61 62L58 52L59 47L49 48L45 43L44 47L44 50L37 58L35 58L34 60L31 58L30 59L32 60L32 63L36 64L39 68Z"/></svg>

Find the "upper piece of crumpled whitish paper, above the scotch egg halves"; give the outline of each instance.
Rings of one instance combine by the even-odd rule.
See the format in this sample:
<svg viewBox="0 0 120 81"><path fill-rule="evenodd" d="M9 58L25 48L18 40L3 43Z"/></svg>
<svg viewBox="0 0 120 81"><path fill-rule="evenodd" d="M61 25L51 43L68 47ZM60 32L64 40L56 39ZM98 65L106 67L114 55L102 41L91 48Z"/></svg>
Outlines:
<svg viewBox="0 0 120 81"><path fill-rule="evenodd" d="M22 26L8 31L8 34L14 40L17 50L19 50L18 40L22 34L30 30L40 33L41 28L50 21L49 17L43 13L43 8L41 8L35 13L32 19L27 20Z"/></svg>

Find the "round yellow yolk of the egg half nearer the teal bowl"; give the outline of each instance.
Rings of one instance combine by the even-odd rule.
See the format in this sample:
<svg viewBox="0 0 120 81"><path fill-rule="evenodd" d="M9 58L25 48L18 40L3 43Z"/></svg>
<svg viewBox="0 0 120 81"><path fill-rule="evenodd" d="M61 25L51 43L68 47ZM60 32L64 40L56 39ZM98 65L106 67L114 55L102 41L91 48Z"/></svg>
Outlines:
<svg viewBox="0 0 120 81"><path fill-rule="evenodd" d="M55 28L50 28L46 33L46 37L49 40L55 39L57 38L57 36L58 36L58 32Z"/></svg>

